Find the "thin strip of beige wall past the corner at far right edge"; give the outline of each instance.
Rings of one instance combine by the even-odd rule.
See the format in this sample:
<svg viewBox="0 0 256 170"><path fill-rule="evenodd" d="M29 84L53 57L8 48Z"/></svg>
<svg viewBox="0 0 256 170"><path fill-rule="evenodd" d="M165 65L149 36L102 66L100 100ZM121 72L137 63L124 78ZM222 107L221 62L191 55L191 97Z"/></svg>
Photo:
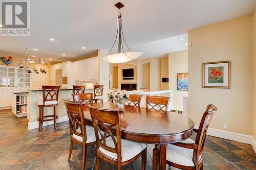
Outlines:
<svg viewBox="0 0 256 170"><path fill-rule="evenodd" d="M254 13L253 13L253 104L252 104L252 108L253 108L253 113L254 113L254 117L253 117L253 137L254 140L256 141L256 108L254 106L255 102L256 102L256 8L254 9Z"/></svg>

